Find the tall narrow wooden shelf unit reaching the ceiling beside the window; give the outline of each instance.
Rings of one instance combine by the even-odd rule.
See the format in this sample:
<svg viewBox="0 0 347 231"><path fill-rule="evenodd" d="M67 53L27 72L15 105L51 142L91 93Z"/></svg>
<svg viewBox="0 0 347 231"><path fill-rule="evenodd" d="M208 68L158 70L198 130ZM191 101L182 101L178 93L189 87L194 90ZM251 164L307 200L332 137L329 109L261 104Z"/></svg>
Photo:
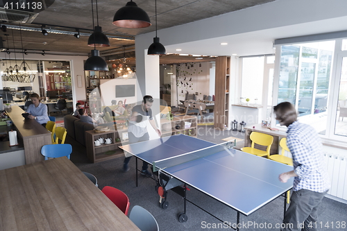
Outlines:
<svg viewBox="0 0 347 231"><path fill-rule="evenodd" d="M228 127L230 56L216 58L216 84L214 89L214 128Z"/></svg>

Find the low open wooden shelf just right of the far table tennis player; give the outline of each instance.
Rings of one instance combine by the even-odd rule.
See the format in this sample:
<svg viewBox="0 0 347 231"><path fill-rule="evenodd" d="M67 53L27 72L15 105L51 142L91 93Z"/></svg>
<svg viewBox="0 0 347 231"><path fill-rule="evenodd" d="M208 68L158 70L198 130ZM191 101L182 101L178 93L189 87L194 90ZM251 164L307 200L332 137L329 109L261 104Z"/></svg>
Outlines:
<svg viewBox="0 0 347 231"><path fill-rule="evenodd" d="M185 125L190 123L189 128L185 128ZM162 126L162 137L168 137L171 135L185 134L192 137L197 137L197 117L193 116L183 116L174 117L174 119L169 120L166 118L160 119L160 124ZM179 126L180 128L176 128Z"/></svg>

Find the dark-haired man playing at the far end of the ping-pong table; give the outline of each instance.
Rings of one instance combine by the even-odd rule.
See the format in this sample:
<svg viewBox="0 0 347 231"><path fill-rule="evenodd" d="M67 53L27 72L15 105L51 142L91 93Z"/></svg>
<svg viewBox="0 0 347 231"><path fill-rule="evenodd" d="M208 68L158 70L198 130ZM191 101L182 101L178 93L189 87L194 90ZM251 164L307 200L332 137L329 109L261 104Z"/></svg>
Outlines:
<svg viewBox="0 0 347 231"><path fill-rule="evenodd" d="M162 132L157 128L155 125L155 121L153 120L152 115L152 107L153 104L153 98L152 96L144 96L142 99L141 105L136 105L133 110L132 114L129 119L128 123L128 138L129 138L129 144L137 143L137 142L143 142L145 140L149 140L149 133L147 130L147 123L146 120L149 119L149 123L151 124L152 128L157 132L159 136L162 135ZM128 163L130 161L130 157L126 157L124 159L123 164L123 171L129 171ZM152 173L148 171L149 164L147 162L143 162L142 165L142 171L141 174L144 176L152 176Z"/></svg>

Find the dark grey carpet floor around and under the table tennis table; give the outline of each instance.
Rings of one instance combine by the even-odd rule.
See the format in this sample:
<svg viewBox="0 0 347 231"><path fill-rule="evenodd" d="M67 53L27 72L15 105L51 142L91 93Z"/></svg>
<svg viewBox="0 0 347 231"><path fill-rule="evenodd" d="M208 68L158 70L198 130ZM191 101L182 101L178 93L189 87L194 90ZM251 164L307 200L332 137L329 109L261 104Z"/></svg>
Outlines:
<svg viewBox="0 0 347 231"><path fill-rule="evenodd" d="M244 138L244 133L232 132L228 130L220 131L214 130L213 126L198 126L198 138L205 139L216 144L221 143L221 139L226 137L239 137ZM92 164L87 161L85 147L75 142L71 137L67 136L66 143L73 146L73 153L71 154L71 161L78 166L81 171L87 171L92 173L98 179L99 188L102 189L106 185L116 187L121 191L124 191L128 195L130 200L130 209L134 205L140 205L145 209L149 210L151 214L158 221L160 230L177 231L177 230L226 230L226 226L214 219L208 213L198 209L198 207L187 203L187 216L188 221L186 223L178 222L178 214L183 212L183 198L173 191L168 192L167 200L169 201L169 207L167 209L160 208L159 196L155 191L155 181L151 178L146 178L139 175L139 186L135 185L135 157L130 160L130 171L123 173L121 167L123 164L124 157L118 157L113 160L99 162ZM138 162L139 167L142 163ZM232 182L226 182L226 184L232 184ZM257 196L257 192L254 192L254 196ZM187 198L192 200L193 203L203 207L212 214L218 216L223 221L228 223L236 222L235 210L230 207L223 205L217 200L210 198L209 196L190 189L187 192ZM240 198L242 199L242 198ZM283 218L283 198L277 198L268 205L258 209L256 212L249 216L241 215L240 221L243 223L252 222L258 226L252 225L247 229L241 230L280 230L275 228L276 223L281 223ZM129 210L130 211L130 210ZM319 221L324 225L329 222L330 225L336 225L337 221L347 221L347 205L339 203L329 198L324 198L319 210ZM204 228L205 224L219 225L219 228ZM268 228L261 228L261 225L267 224ZM269 228L269 224L273 225L273 228ZM232 229L229 229L232 230ZM337 228L322 228L319 230L346 230Z"/></svg>

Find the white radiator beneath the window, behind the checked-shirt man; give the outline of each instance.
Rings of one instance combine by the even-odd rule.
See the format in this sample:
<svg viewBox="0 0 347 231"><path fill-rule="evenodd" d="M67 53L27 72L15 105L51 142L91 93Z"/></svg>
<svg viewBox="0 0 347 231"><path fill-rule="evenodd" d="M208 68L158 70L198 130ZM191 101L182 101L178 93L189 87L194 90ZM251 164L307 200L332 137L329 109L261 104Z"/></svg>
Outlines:
<svg viewBox="0 0 347 231"><path fill-rule="evenodd" d="M347 200L347 157L328 152L324 157L331 182L328 194Z"/></svg>

